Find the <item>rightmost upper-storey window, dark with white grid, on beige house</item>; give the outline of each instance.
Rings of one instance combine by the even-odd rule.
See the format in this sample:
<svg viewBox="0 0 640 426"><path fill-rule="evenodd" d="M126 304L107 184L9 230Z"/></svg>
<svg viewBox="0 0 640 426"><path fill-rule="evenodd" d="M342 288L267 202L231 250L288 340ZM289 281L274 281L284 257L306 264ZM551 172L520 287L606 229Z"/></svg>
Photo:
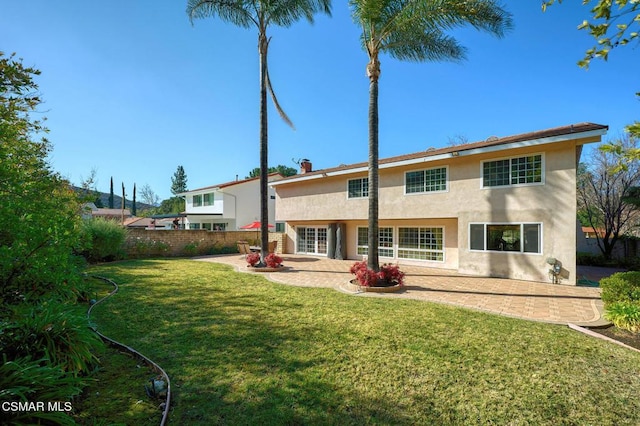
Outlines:
<svg viewBox="0 0 640 426"><path fill-rule="evenodd" d="M542 154L482 163L483 188L542 183Z"/></svg>

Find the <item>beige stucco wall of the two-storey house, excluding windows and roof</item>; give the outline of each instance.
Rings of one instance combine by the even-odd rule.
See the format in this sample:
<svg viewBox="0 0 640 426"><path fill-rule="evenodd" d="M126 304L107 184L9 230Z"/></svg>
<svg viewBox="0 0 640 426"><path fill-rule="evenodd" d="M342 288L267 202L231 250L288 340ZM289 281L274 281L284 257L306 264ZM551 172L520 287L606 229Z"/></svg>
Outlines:
<svg viewBox="0 0 640 426"><path fill-rule="evenodd" d="M428 225L445 228L445 262L425 266L461 273L548 282L548 257L563 265L561 283L576 282L576 141L380 169L380 226ZM527 154L543 154L544 184L484 189L481 162ZM404 194L410 170L448 167L446 192ZM347 224L347 256L356 259L355 233L366 226L367 200L347 199L347 181L366 172L276 187L276 220L288 223L288 250L295 250L297 225ZM469 250L469 223L542 223L542 253ZM385 259L381 259L384 261Z"/></svg>

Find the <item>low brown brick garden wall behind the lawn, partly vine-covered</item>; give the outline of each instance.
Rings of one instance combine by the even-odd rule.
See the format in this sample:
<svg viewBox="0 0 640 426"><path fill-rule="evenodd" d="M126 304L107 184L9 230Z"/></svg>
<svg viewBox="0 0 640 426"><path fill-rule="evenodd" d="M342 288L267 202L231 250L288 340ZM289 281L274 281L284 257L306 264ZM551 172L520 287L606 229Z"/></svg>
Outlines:
<svg viewBox="0 0 640 426"><path fill-rule="evenodd" d="M277 253L283 252L285 235L269 233L269 241L278 241ZM130 257L198 256L220 250L237 249L236 242L260 244L260 231L207 231L127 229L126 250Z"/></svg>

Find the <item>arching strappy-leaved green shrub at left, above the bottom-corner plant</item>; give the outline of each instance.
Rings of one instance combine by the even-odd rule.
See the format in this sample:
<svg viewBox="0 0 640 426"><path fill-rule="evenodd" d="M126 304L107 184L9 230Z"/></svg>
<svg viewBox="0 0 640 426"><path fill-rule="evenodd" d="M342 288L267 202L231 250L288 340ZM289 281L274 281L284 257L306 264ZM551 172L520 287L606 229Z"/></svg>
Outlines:
<svg viewBox="0 0 640 426"><path fill-rule="evenodd" d="M0 352L7 359L45 359L72 375L87 372L102 341L89 328L87 317L67 304L51 301L22 304L0 322Z"/></svg>

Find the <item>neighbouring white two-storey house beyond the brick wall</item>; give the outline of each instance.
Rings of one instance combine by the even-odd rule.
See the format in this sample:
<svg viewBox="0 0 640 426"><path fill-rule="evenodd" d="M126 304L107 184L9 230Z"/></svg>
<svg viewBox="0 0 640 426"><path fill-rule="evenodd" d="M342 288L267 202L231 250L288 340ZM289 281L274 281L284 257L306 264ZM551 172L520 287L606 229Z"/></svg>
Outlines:
<svg viewBox="0 0 640 426"><path fill-rule="evenodd" d="M271 173L269 182L282 179ZM225 182L178 194L185 199L185 228L235 231L260 220L260 178ZM275 223L275 191L269 187L269 224Z"/></svg>

